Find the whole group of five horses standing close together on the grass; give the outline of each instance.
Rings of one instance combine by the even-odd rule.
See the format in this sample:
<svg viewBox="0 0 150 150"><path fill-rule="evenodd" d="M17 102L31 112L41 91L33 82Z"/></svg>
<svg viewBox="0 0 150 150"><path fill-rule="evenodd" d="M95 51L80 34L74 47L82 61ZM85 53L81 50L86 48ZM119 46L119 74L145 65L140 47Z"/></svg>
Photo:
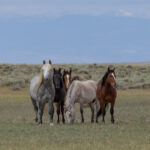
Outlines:
<svg viewBox="0 0 150 150"><path fill-rule="evenodd" d="M111 122L114 123L114 104L117 96L115 69L110 69L97 83L92 80L80 81L79 76L72 78L72 70L63 73L53 68L51 61L43 61L41 73L33 77L30 83L30 97L35 111L35 122L42 124L44 106L49 105L50 125L53 125L54 103L57 107L57 123L65 123L64 112L69 123L75 120L75 103L80 104L81 122L84 122L83 108L89 106L94 122L94 105L96 105L96 122L102 114L105 122L106 107L111 104ZM39 117L38 117L39 116Z"/></svg>

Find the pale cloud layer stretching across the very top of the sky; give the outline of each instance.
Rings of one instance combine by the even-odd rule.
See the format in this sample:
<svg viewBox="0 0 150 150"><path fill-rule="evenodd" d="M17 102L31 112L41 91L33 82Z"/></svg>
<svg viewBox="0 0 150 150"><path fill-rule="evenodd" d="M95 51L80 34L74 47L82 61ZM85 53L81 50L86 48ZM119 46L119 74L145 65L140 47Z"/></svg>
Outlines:
<svg viewBox="0 0 150 150"><path fill-rule="evenodd" d="M64 15L128 16L150 18L150 2L126 0L0 0L0 17L48 17Z"/></svg>

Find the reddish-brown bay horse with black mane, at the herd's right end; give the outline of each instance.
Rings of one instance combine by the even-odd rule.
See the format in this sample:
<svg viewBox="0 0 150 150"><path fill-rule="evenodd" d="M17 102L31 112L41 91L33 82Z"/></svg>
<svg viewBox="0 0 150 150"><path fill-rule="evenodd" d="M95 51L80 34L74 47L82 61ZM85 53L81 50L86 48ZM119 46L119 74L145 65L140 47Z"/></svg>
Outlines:
<svg viewBox="0 0 150 150"><path fill-rule="evenodd" d="M101 113L103 115L102 121L105 122L105 108L108 105L108 103L111 103L111 122L114 123L114 104L117 97L115 78L115 69L111 70L108 67L108 71L105 73L102 80L100 80L98 83L96 96L100 103L100 110L97 112L96 122L98 122L98 117L101 115Z"/></svg>

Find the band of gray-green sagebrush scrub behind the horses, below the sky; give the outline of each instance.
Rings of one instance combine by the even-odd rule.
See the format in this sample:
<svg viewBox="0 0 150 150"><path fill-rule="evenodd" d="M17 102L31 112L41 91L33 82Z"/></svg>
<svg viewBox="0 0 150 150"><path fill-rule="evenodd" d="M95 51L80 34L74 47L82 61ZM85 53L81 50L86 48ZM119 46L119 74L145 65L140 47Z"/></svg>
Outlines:
<svg viewBox="0 0 150 150"><path fill-rule="evenodd" d="M56 68L73 69L73 76L80 75L83 80L99 81L107 70L107 64L54 65ZM118 89L150 88L150 64L112 64L116 68ZM33 76L39 74L40 65L0 65L0 86L12 90L29 87Z"/></svg>

